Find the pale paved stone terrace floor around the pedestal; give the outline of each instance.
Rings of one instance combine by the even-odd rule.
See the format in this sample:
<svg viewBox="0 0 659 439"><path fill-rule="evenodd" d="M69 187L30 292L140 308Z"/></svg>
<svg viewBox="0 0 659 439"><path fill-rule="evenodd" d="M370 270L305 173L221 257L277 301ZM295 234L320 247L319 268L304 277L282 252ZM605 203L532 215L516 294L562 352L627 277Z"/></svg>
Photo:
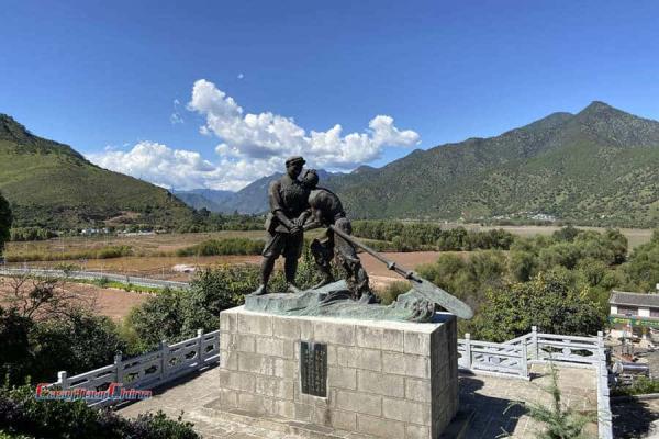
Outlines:
<svg viewBox="0 0 659 439"><path fill-rule="evenodd" d="M182 418L192 421L194 429L208 439L309 437L304 435L309 432L308 430L291 428L291 423L284 426L273 419L253 418L237 410L231 413L219 410L217 372L219 369L214 368L183 378L167 387L157 390L153 398L121 408L119 413L126 417L135 417L139 413L161 409L176 418L182 412ZM514 401L539 404L548 404L551 401L549 394L543 390L551 382L548 368L535 364L532 372L534 379L530 382L480 374L460 375L460 405L476 413L467 436L469 439L494 439L505 437L506 432L509 437L516 439L535 437L534 432L541 427L526 416L521 407L506 410L509 404ZM596 410L596 383L593 370L561 368L558 372L558 383L563 402L570 407L590 413ZM589 432L596 437L595 424L589 425ZM314 437L365 438L323 428L315 434Z"/></svg>

